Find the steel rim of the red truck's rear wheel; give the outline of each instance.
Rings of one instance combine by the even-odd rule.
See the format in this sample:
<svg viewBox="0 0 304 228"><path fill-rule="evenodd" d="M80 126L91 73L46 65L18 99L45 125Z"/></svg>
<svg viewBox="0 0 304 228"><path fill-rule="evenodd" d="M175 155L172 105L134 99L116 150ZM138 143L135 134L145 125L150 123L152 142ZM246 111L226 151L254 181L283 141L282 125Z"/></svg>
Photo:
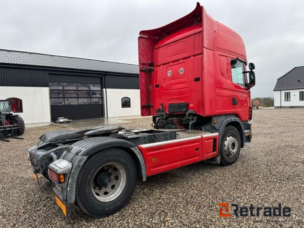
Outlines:
<svg viewBox="0 0 304 228"><path fill-rule="evenodd" d="M116 162L105 164L94 174L91 186L98 201L110 202L123 192L126 186L126 171Z"/></svg>

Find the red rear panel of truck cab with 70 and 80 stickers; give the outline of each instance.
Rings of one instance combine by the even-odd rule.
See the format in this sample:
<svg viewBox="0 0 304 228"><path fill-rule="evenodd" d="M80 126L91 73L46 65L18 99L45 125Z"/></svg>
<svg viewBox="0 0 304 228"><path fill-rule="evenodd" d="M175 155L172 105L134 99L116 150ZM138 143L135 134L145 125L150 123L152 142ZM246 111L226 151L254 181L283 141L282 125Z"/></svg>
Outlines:
<svg viewBox="0 0 304 228"><path fill-rule="evenodd" d="M167 113L170 103L188 102L190 109L196 108L202 114L202 24L158 42L154 47L154 63L152 102L163 103ZM155 109L152 114L156 115Z"/></svg>

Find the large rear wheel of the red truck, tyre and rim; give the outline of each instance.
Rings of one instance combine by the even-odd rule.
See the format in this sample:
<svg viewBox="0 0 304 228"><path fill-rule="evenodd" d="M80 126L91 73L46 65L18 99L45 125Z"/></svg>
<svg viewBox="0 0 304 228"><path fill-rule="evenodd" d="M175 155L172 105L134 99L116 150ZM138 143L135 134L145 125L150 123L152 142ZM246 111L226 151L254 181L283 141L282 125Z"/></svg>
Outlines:
<svg viewBox="0 0 304 228"><path fill-rule="evenodd" d="M76 184L76 203L90 216L112 215L129 202L136 180L135 162L126 151L102 150L81 168Z"/></svg>

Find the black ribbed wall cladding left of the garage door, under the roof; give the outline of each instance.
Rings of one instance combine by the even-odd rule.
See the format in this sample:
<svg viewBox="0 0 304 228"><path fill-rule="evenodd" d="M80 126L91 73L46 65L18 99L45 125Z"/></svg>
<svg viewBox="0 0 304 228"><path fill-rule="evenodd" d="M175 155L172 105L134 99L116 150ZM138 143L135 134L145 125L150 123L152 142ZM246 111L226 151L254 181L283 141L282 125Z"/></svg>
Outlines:
<svg viewBox="0 0 304 228"><path fill-rule="evenodd" d="M48 72L39 69L0 67L0 86L49 87Z"/></svg>

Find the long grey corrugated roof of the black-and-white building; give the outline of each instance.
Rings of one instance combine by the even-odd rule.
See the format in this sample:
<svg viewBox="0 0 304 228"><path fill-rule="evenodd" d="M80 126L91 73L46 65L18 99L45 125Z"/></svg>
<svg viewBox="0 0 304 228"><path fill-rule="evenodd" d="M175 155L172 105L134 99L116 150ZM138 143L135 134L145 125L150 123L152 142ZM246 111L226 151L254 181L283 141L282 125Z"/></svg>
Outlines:
<svg viewBox="0 0 304 228"><path fill-rule="evenodd" d="M74 70L139 74L136 64L0 49L0 63Z"/></svg>

